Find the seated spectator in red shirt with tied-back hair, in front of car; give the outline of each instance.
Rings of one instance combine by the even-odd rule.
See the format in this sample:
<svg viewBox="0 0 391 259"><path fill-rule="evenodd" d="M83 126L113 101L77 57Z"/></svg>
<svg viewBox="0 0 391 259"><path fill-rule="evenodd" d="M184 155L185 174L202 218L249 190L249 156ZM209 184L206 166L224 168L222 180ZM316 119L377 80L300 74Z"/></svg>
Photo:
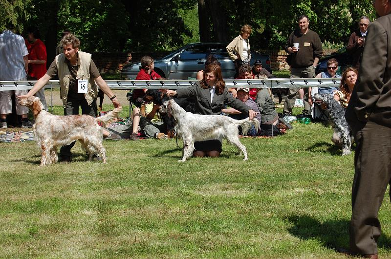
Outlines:
<svg viewBox="0 0 391 259"><path fill-rule="evenodd" d="M141 58L140 72L136 76L136 80L164 80L153 69L155 68L153 59L150 56L144 56ZM133 104L140 108L143 101L141 100L147 89L134 89L131 97Z"/></svg>

